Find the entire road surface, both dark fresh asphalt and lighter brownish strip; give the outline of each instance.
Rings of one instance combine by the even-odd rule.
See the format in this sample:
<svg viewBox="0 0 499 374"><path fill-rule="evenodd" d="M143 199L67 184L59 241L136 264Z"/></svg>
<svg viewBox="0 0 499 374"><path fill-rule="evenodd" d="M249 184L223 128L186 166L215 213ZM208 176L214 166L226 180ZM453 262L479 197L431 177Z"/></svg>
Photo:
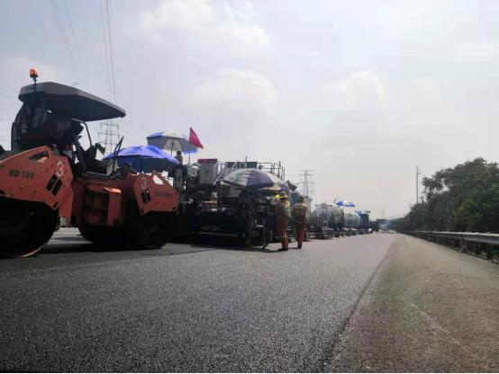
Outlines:
<svg viewBox="0 0 499 374"><path fill-rule="evenodd" d="M499 266L374 234L0 261L1 371L499 371Z"/></svg>

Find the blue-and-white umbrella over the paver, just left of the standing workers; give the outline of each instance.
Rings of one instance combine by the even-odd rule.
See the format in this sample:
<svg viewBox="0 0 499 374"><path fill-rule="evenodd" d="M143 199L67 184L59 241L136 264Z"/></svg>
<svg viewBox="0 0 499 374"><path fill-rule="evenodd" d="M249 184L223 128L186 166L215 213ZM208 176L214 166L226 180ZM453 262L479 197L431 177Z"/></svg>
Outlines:
<svg viewBox="0 0 499 374"><path fill-rule="evenodd" d="M269 188L276 191L287 191L286 182L276 175L259 169L239 169L223 177L223 183L231 184L244 190Z"/></svg>

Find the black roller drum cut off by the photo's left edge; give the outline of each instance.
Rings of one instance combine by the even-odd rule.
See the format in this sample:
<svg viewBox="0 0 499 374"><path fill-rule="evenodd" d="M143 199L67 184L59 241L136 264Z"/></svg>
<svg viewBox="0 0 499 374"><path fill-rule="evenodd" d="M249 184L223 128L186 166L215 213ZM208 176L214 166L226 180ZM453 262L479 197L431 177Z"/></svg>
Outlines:
<svg viewBox="0 0 499 374"><path fill-rule="evenodd" d="M36 254L54 234L58 218L57 210L44 203L0 198L0 254Z"/></svg>

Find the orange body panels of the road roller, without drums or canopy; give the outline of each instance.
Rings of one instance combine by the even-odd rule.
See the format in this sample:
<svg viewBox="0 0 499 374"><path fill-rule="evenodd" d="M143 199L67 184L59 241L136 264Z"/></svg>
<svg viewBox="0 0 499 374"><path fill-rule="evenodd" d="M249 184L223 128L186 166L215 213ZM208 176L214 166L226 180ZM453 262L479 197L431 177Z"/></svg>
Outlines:
<svg viewBox="0 0 499 374"><path fill-rule="evenodd" d="M73 226L118 227L129 208L143 216L175 212L178 193L161 174L126 174L113 179L74 178L68 157L36 147L0 161L0 196L43 202Z"/></svg>

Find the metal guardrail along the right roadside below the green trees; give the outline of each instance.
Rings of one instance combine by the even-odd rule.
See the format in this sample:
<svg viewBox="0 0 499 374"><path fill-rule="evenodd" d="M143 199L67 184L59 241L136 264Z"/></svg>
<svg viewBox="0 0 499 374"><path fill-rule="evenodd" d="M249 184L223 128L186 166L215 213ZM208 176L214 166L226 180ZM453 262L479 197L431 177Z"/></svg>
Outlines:
<svg viewBox="0 0 499 374"><path fill-rule="evenodd" d="M493 257L498 251L499 234L458 233L449 231L405 231L403 234L416 236L439 245L451 245L463 252L485 252Z"/></svg>

